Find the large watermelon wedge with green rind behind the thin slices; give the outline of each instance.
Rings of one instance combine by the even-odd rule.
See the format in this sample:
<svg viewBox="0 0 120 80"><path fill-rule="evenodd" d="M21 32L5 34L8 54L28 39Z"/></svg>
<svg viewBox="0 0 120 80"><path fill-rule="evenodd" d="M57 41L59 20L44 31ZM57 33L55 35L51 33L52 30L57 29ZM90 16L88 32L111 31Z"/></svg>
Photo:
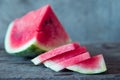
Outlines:
<svg viewBox="0 0 120 80"><path fill-rule="evenodd" d="M5 49L10 54L33 56L70 41L50 5L46 5L9 25Z"/></svg>

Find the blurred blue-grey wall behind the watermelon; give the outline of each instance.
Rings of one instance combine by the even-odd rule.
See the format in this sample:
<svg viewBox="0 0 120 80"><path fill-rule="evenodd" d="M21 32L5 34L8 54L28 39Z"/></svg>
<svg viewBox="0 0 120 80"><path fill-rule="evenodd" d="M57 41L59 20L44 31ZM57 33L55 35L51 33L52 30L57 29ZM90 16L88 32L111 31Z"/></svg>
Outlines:
<svg viewBox="0 0 120 80"><path fill-rule="evenodd" d="M120 42L120 0L0 0L1 47L12 20L48 3L73 41Z"/></svg>

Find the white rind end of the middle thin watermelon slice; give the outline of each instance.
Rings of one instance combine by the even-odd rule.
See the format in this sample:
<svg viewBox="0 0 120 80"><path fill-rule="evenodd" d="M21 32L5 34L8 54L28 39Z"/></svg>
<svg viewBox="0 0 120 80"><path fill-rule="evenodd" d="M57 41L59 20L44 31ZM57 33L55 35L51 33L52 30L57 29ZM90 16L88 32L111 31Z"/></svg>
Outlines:
<svg viewBox="0 0 120 80"><path fill-rule="evenodd" d="M51 61L51 60L47 60L47 61L45 61L43 64L44 64L46 67L48 67L48 68L50 68L50 69L52 69L53 71L56 71L56 72L64 69L63 66L61 66L61 65L59 65L59 64L57 64L56 62Z"/></svg>

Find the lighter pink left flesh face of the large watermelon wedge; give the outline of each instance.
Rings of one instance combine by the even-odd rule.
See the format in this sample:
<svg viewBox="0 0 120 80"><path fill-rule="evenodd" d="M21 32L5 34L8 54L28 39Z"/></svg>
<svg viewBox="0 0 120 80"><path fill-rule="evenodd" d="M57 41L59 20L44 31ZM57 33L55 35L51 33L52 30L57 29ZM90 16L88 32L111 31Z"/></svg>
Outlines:
<svg viewBox="0 0 120 80"><path fill-rule="evenodd" d="M12 48L21 47L36 36L37 29L41 23L40 19L45 14L41 13L43 10L47 10L47 6L31 11L22 18L14 20L10 34L10 45Z"/></svg>

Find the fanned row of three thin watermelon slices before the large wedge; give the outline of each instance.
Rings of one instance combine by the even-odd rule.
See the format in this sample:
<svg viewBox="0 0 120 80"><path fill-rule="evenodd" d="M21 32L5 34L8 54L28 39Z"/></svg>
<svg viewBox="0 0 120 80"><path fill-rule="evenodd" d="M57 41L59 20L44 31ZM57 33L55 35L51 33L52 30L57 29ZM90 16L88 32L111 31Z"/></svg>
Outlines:
<svg viewBox="0 0 120 80"><path fill-rule="evenodd" d="M69 69L84 74L96 74L106 71L102 54L91 57L85 46L73 42L52 49L31 60L35 65L43 63L58 72Z"/></svg>

